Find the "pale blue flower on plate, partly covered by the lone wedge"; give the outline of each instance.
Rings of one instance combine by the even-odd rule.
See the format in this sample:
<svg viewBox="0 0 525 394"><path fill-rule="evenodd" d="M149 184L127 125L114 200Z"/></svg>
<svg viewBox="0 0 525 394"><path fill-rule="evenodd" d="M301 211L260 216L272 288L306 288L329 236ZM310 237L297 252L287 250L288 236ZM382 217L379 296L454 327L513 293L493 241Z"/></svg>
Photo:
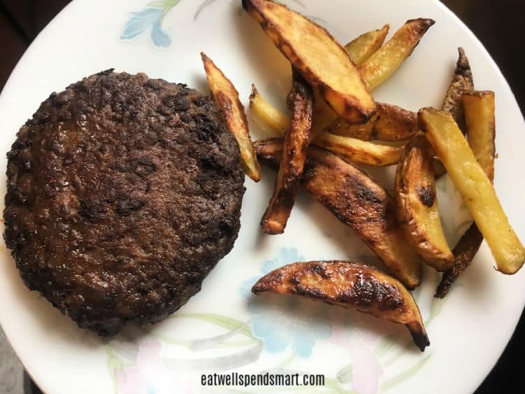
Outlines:
<svg viewBox="0 0 525 394"><path fill-rule="evenodd" d="M262 262L262 275L304 258L297 248L281 248L279 255ZM320 339L331 335L327 308L321 303L314 304L300 297L281 295L251 296L251 286L260 278L254 276L239 288L239 293L248 298L248 311L255 315L250 323L251 333L262 341L269 353L279 353L291 346L292 351L302 358L309 358Z"/></svg>

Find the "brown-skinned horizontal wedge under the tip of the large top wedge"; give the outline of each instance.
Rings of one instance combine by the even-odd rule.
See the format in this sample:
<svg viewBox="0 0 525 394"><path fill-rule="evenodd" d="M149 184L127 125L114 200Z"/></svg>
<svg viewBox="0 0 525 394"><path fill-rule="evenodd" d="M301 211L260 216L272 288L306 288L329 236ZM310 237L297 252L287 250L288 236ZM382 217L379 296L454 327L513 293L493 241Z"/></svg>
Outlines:
<svg viewBox="0 0 525 394"><path fill-rule="evenodd" d="M376 103L376 108L376 115L363 125L349 125L338 118L325 131L363 141L404 141L419 131L415 112L384 103Z"/></svg>

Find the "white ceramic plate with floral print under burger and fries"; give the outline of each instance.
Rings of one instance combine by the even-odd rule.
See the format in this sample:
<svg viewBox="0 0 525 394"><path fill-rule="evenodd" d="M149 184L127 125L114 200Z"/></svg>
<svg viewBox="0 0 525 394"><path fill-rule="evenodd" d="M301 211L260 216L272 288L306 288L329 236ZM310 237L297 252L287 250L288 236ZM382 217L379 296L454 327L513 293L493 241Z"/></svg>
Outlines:
<svg viewBox="0 0 525 394"><path fill-rule="evenodd" d="M340 41L386 23L395 31L407 19L435 19L412 57L374 92L380 101L412 110L440 106L456 47L463 46L476 87L496 92L495 185L510 222L525 239L525 184L515 178L522 167L524 120L496 64L449 10L435 0L286 3ZM290 85L288 63L241 11L240 1L73 1L27 50L1 94L0 151L9 150L15 132L50 92L97 71L143 71L205 92L200 51L230 76L245 103L251 83L256 83L274 104L283 106ZM264 136L250 121L255 137ZM3 160L2 177L5 165ZM391 188L391 178L379 171L374 175ZM423 286L414 292L432 343L424 353L405 328L370 316L293 297L255 300L249 295L255 279L288 262L358 258L377 263L353 232L307 195L300 195L285 234L262 235L258 223L274 174L265 170L263 176L259 184L246 179L239 239L204 281L203 290L166 321L146 329L127 328L110 342L78 329L27 290L3 247L1 325L38 386L47 393L220 392L225 389L201 386L200 375L235 370L325 374L324 388L295 388L307 393L474 391L514 330L525 301L525 273L495 272L483 244L472 267L442 302L432 297L437 274L426 270ZM0 183L3 194L5 179ZM444 228L454 242L468 226L468 214L447 178L438 191Z"/></svg>

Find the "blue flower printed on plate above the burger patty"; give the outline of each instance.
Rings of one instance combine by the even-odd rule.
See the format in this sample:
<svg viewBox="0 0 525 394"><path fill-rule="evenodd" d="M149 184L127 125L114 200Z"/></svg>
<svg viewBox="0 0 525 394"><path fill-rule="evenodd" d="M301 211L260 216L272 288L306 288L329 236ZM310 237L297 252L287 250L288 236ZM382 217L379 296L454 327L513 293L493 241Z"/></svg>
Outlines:
<svg viewBox="0 0 525 394"><path fill-rule="evenodd" d="M120 38L123 40L131 40L143 34L144 31L151 29L151 41L153 41L153 44L159 48L167 48L169 44L172 43L172 39L162 30L162 20L166 13L178 2L179 1L158 1L150 3L150 6L145 10L132 13L132 17L126 23Z"/></svg>

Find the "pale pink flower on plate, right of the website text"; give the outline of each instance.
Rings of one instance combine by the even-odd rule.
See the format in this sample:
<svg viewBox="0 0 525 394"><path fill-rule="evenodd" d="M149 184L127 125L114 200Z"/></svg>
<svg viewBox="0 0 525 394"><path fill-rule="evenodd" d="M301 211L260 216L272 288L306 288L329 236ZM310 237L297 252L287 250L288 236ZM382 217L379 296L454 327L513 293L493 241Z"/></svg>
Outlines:
<svg viewBox="0 0 525 394"><path fill-rule="evenodd" d="M372 338L372 342L375 338ZM352 360L352 388L359 394L377 394L383 377L383 367L377 356L354 335L345 334L342 325L332 325L331 342L348 351Z"/></svg>

